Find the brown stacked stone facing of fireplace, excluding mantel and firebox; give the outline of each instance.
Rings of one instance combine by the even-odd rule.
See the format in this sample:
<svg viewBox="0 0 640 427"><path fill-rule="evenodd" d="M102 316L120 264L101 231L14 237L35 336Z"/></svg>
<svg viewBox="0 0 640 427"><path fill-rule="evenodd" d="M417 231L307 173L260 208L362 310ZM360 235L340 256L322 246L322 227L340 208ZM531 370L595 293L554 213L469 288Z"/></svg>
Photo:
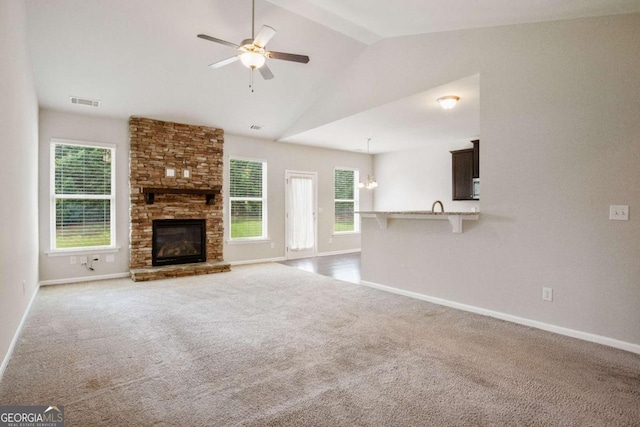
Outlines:
<svg viewBox="0 0 640 427"><path fill-rule="evenodd" d="M129 119L130 157L130 262L134 280L152 280L228 271L223 262L222 195L207 205L204 195L156 193L145 202L144 187L208 190L222 186L224 131L141 117ZM167 177L166 170L175 170ZM184 178L184 170L189 178ZM153 267L153 220L205 219L205 263Z"/></svg>

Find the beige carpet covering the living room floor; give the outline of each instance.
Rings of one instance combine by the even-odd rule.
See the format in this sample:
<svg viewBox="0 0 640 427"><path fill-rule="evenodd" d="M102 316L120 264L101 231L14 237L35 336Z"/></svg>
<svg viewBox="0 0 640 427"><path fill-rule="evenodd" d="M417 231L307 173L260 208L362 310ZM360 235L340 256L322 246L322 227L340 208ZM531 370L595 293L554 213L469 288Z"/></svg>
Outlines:
<svg viewBox="0 0 640 427"><path fill-rule="evenodd" d="M280 264L42 288L0 405L66 426L638 426L640 356Z"/></svg>

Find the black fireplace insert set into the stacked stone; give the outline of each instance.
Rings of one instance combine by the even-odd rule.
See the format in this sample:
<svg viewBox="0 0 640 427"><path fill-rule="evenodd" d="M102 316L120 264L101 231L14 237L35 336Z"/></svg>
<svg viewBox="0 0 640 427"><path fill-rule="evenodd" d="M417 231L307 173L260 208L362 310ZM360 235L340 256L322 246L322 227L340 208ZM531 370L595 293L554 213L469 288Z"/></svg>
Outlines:
<svg viewBox="0 0 640 427"><path fill-rule="evenodd" d="M153 265L205 262L204 219L158 219L153 221Z"/></svg>

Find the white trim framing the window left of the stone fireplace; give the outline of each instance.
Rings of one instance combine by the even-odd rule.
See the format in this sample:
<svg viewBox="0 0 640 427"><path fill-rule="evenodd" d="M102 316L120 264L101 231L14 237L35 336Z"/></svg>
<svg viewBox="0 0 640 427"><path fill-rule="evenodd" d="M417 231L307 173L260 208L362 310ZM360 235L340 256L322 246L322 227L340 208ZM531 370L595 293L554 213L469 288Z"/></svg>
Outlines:
<svg viewBox="0 0 640 427"><path fill-rule="evenodd" d="M108 197L96 197L96 195L73 195L74 197L60 197L56 194L56 145L74 145L80 147L96 147L111 150L111 195ZM56 253L84 253L110 249L119 249L116 246L116 155L117 146L106 142L81 141L73 139L51 138L49 141L49 252ZM84 196L84 197L83 197ZM88 197L87 197L88 196ZM56 201L58 199L84 199L84 200L109 200L109 234L110 244L103 246L74 246L70 248L56 248Z"/></svg>

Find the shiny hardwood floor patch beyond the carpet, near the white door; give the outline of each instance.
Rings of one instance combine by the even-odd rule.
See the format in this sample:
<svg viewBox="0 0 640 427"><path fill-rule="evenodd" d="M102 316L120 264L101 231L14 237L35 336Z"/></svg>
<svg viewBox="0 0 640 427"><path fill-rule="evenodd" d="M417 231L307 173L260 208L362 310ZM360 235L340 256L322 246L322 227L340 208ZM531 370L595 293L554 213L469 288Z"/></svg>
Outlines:
<svg viewBox="0 0 640 427"><path fill-rule="evenodd" d="M360 283L360 252L281 261L280 264L345 282Z"/></svg>

